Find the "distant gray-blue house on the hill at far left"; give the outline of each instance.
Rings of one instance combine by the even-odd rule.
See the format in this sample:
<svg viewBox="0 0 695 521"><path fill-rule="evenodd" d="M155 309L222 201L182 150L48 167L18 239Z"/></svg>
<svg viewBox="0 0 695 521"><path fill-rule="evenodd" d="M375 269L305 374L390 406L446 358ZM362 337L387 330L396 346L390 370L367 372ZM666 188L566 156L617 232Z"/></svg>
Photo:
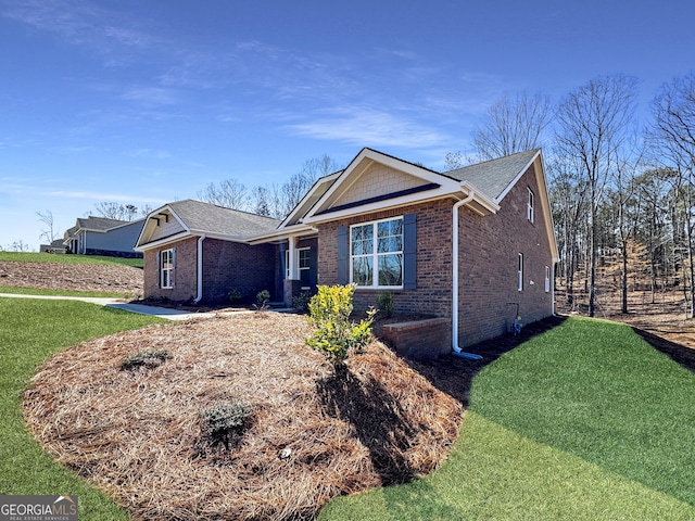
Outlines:
<svg viewBox="0 0 695 521"><path fill-rule="evenodd" d="M115 257L141 257L134 250L144 219L117 220L105 217L78 218L75 226L63 236L63 244L70 253L78 255L106 255Z"/></svg>

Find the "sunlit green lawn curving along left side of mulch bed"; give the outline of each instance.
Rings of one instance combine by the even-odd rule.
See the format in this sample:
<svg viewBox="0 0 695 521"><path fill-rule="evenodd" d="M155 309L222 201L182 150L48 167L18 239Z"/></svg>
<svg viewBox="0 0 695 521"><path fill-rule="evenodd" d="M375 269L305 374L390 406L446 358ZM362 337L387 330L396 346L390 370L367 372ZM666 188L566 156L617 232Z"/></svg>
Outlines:
<svg viewBox="0 0 695 521"><path fill-rule="evenodd" d="M156 321L163 320L81 302L0 298L0 494L77 494L79 519L128 519L111 499L41 449L26 430L20 398L51 354Z"/></svg>

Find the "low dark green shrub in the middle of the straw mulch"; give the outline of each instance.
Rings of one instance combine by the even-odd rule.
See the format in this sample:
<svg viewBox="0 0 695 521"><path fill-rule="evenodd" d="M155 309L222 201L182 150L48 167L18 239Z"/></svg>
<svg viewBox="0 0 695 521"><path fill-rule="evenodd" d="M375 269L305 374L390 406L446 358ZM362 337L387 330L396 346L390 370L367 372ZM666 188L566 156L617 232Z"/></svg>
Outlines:
<svg viewBox="0 0 695 521"><path fill-rule="evenodd" d="M224 401L199 412L201 431L212 445L223 443L229 448L229 441L239 439L251 427L253 409L245 402Z"/></svg>

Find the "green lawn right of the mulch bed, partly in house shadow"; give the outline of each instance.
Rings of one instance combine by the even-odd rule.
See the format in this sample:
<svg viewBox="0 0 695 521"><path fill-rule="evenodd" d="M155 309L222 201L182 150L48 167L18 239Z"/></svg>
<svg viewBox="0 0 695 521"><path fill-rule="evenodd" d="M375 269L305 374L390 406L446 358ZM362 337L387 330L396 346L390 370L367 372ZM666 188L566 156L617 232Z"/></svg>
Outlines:
<svg viewBox="0 0 695 521"><path fill-rule="evenodd" d="M488 366L450 459L321 520L693 520L695 373L629 327L570 318Z"/></svg>

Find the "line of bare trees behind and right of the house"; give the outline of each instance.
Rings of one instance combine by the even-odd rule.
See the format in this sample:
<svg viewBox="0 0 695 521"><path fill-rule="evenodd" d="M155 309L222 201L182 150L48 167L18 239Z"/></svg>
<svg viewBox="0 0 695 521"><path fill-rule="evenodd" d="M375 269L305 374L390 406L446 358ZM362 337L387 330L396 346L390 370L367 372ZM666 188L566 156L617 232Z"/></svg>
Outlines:
<svg viewBox="0 0 695 521"><path fill-rule="evenodd" d="M572 306L594 316L597 290L678 290L695 312L695 74L665 82L637 120L637 80L603 76L552 104L543 94L503 97L483 116L469 155L447 167L543 148L560 250L556 272ZM602 276L602 284L597 277Z"/></svg>

